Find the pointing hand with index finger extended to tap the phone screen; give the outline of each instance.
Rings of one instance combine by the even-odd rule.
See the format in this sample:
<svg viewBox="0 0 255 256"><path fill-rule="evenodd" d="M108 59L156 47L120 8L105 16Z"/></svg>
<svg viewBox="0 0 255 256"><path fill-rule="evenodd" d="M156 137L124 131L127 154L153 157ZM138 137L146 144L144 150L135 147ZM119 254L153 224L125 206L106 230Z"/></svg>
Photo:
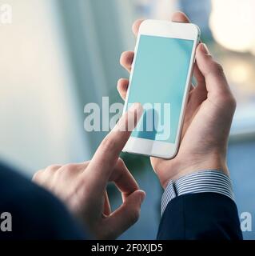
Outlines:
<svg viewBox="0 0 255 256"><path fill-rule="evenodd" d="M117 238L139 217L145 192L139 190L119 154L141 114L141 105L135 103L106 136L90 162L50 166L34 175L34 182L61 198L94 238ZM106 192L108 182L114 182L122 192L123 204L113 213Z"/></svg>

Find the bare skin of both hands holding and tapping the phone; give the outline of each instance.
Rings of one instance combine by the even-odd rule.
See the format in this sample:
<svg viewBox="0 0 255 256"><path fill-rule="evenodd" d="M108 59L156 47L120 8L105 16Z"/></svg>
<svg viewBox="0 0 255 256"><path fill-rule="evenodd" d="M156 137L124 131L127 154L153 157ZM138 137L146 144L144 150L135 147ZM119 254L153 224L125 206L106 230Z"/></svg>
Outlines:
<svg viewBox="0 0 255 256"><path fill-rule="evenodd" d="M173 14L172 20L189 22L180 12ZM135 35L141 22L138 20L133 25ZM192 86L189 91L180 149L171 160L151 158L163 187L169 180L197 170L217 169L229 174L225 158L236 102L222 67L213 60L204 44L197 46L196 54L194 75L197 86ZM133 51L122 54L121 64L126 70L130 71L132 62ZM123 99L128 86L129 80L122 78L118 81L118 91ZM139 217L145 192L139 190L119 154L141 114L141 105L134 104L106 136L90 162L49 166L34 175L34 182L62 199L94 238L118 238ZM122 206L114 212L110 209L106 192L109 182L114 182L123 198Z"/></svg>

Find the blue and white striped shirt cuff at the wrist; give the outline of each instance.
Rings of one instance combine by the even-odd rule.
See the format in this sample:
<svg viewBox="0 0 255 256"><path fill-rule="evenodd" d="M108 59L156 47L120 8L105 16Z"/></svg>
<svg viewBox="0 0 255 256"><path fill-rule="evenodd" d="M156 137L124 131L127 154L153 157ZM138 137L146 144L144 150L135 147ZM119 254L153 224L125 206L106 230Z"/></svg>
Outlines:
<svg viewBox="0 0 255 256"><path fill-rule="evenodd" d="M229 176L219 170L201 170L187 174L177 181L170 181L161 199L161 215L168 203L182 194L213 192L224 194L234 200L232 182Z"/></svg>

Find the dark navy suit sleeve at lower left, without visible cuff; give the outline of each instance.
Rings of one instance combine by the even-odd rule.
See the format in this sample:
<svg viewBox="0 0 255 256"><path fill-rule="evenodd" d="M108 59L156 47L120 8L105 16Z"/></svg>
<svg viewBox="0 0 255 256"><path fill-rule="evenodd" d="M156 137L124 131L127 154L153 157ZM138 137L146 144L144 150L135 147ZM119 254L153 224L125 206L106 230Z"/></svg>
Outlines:
<svg viewBox="0 0 255 256"><path fill-rule="evenodd" d="M85 239L86 234L62 202L0 164L0 214L12 216L12 230L0 239Z"/></svg>

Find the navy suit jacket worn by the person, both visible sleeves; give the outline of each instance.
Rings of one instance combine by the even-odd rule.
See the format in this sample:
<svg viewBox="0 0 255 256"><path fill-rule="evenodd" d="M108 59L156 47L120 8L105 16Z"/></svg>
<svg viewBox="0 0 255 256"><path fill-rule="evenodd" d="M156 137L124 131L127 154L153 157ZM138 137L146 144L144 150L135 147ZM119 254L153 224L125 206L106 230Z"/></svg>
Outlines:
<svg viewBox="0 0 255 256"><path fill-rule="evenodd" d="M0 164L0 214L12 215L5 239L83 239L86 235L57 198ZM1 221L1 219L0 219ZM185 194L169 202L157 239L241 239L237 206L221 194Z"/></svg>

